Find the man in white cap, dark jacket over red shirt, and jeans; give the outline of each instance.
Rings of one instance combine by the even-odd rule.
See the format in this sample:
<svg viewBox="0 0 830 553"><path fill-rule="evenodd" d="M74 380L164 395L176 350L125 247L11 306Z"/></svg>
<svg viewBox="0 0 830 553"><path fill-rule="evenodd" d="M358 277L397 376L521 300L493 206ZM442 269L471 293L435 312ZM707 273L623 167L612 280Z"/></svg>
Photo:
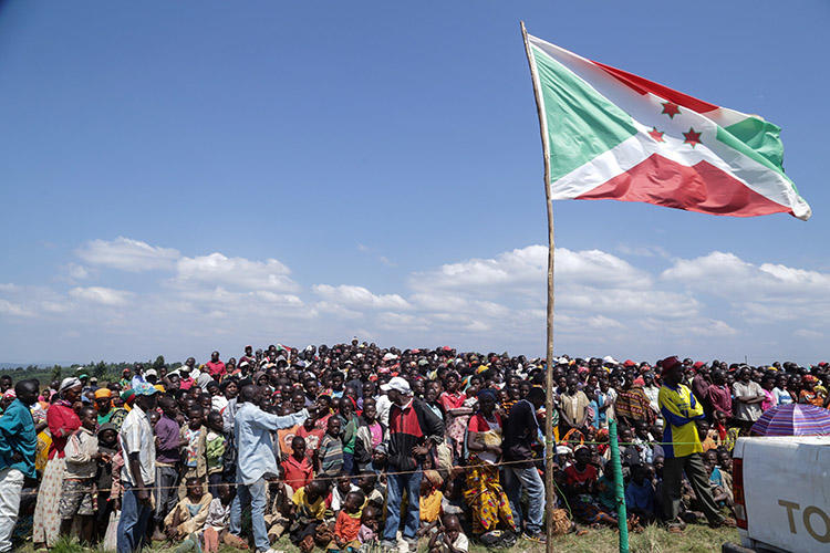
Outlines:
<svg viewBox="0 0 830 553"><path fill-rule="evenodd" d="M401 522L401 500L407 490L408 508L404 525L404 540L409 551L417 546L422 467L433 444L444 440L444 421L429 410L424 401L413 398L409 383L394 377L381 386L390 399L388 471L407 472L388 474L386 479L386 526L383 532L384 547L396 547L397 528ZM432 444L430 444L432 442Z"/></svg>

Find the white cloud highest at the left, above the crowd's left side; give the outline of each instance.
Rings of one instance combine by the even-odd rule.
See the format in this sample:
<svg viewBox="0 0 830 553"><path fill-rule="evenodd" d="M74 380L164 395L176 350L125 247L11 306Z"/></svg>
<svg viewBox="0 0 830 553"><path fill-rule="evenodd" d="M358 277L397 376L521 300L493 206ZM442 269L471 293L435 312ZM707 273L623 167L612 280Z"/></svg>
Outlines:
<svg viewBox="0 0 830 553"><path fill-rule="evenodd" d="M172 269L180 255L177 250L124 237L108 241L91 240L76 253L90 264L129 272Z"/></svg>

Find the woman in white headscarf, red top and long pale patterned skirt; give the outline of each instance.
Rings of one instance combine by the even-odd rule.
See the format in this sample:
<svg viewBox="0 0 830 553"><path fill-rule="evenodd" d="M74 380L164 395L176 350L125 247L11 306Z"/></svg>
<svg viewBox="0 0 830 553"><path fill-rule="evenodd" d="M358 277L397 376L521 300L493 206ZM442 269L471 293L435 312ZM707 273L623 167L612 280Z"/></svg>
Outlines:
<svg viewBox="0 0 830 553"><path fill-rule="evenodd" d="M81 419L73 405L81 397L81 380L75 377L64 378L58 389L60 399L46 411L49 432L52 445L49 448L49 461L43 470L43 480L38 490L38 504L34 508L32 542L34 549L52 547L58 542L61 529L61 517L58 503L61 499L63 472L66 467L64 448L70 436L81 427Z"/></svg>

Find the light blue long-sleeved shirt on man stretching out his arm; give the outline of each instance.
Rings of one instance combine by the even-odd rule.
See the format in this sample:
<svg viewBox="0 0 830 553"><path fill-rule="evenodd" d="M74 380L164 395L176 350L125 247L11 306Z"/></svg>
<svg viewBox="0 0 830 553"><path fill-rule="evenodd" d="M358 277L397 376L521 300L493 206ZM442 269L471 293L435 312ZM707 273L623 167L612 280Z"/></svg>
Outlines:
<svg viewBox="0 0 830 553"><path fill-rule="evenodd" d="M277 476L277 458L273 456L271 432L281 428L301 425L309 411L271 415L251 403L238 404L234 418L234 434L239 451L237 482L250 486L266 476Z"/></svg>

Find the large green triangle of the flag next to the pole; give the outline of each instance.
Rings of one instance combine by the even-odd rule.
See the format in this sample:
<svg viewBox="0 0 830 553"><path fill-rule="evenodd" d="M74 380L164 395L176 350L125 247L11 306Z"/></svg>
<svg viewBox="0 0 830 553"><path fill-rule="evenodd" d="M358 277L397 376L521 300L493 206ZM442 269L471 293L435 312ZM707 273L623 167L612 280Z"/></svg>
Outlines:
<svg viewBox="0 0 830 553"><path fill-rule="evenodd" d="M532 48L548 124L551 181L637 133L629 114Z"/></svg>

